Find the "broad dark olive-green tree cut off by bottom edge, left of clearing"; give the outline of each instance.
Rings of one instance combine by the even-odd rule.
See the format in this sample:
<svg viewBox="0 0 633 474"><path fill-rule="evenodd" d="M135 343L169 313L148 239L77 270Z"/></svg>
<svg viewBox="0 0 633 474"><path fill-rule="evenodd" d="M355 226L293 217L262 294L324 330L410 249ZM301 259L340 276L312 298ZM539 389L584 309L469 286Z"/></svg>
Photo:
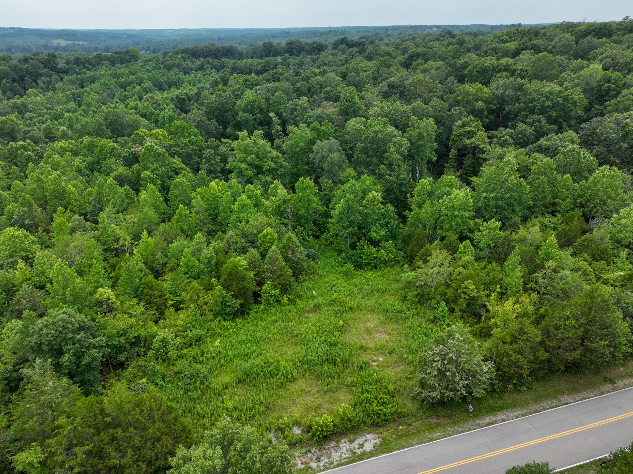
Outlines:
<svg viewBox="0 0 633 474"><path fill-rule="evenodd" d="M189 442L178 409L157 390L135 394L118 383L106 396L81 399L47 444L54 470L150 474L168 467Z"/></svg>

